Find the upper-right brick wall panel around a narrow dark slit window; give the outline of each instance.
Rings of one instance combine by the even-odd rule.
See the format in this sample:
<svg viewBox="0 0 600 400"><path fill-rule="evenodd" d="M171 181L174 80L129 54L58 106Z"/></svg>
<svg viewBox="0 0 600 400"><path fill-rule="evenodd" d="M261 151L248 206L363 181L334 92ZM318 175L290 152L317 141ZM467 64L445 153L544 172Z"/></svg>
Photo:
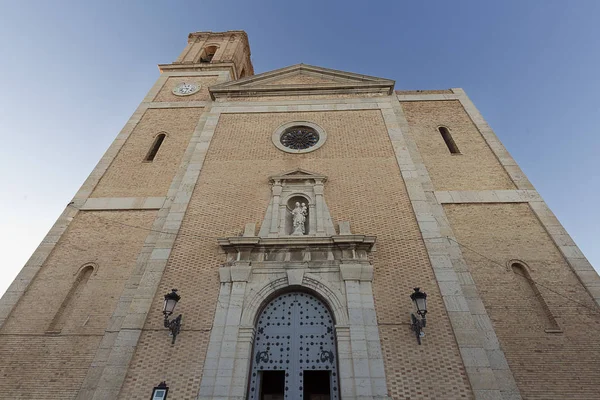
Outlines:
<svg viewBox="0 0 600 400"><path fill-rule="evenodd" d="M515 188L459 101L401 104L435 190ZM450 130L461 154L450 153L440 125Z"/></svg>

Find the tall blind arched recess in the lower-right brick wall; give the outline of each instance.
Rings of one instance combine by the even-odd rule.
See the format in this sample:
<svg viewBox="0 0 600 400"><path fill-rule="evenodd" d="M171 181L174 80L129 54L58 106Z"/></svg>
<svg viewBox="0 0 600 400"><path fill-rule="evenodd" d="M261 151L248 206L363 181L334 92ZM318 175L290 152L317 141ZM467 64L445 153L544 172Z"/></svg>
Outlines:
<svg viewBox="0 0 600 400"><path fill-rule="evenodd" d="M533 279L531 279L527 268L519 262L513 262L510 267L515 274L515 278L519 286L519 302L521 303L521 306L527 307L531 311L534 311L539 320L544 324L546 331L560 331L558 323L550 312L550 309L542 297L542 294L538 290L537 285Z"/></svg>

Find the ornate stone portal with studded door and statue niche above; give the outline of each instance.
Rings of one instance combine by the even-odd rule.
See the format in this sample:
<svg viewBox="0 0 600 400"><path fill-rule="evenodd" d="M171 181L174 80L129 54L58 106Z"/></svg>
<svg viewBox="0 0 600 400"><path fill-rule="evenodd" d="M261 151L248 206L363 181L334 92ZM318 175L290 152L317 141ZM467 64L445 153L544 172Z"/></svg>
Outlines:
<svg viewBox="0 0 600 400"><path fill-rule="evenodd" d="M325 176L295 170L270 181L259 234L250 223L243 236L218 239L227 263L198 399L296 400L317 381L330 399L387 399L368 258L375 237L347 222L335 231Z"/></svg>

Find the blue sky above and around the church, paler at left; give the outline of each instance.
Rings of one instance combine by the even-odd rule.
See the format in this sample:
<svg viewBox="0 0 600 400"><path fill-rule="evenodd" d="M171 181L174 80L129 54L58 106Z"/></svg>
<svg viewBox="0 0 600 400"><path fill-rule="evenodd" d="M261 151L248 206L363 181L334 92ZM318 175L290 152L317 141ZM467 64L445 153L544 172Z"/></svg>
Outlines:
<svg viewBox="0 0 600 400"><path fill-rule="evenodd" d="M192 31L256 73L307 63L464 88L596 267L600 1L0 0L0 293Z"/></svg>

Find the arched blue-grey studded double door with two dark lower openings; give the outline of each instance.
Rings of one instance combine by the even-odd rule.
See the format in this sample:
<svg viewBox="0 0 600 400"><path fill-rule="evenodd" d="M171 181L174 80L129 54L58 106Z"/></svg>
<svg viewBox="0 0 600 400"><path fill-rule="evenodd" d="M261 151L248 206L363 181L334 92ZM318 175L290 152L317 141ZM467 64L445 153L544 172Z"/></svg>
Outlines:
<svg viewBox="0 0 600 400"><path fill-rule="evenodd" d="M261 312L254 339L250 400L337 400L331 313L321 300L290 292Z"/></svg>

